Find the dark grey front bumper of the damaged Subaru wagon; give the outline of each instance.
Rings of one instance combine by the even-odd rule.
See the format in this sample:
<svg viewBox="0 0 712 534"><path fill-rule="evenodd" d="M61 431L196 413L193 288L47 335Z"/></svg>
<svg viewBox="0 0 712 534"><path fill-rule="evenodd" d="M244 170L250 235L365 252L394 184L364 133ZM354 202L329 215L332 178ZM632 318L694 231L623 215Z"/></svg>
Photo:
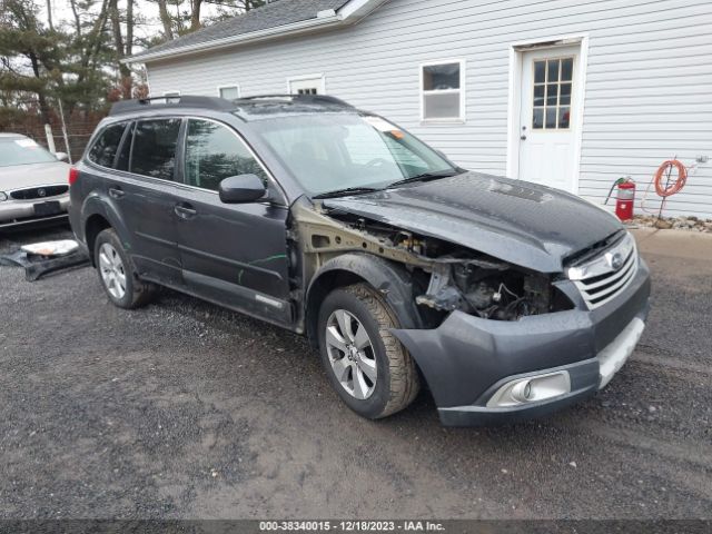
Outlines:
<svg viewBox="0 0 712 534"><path fill-rule="evenodd" d="M393 333L417 362L443 424L513 423L558 411L604 387L642 334L649 296L650 271L641 259L626 289L594 310L580 307L517 322L454 312L438 328ZM556 372L568 374L568 393L515 406L487 406L503 384Z"/></svg>

